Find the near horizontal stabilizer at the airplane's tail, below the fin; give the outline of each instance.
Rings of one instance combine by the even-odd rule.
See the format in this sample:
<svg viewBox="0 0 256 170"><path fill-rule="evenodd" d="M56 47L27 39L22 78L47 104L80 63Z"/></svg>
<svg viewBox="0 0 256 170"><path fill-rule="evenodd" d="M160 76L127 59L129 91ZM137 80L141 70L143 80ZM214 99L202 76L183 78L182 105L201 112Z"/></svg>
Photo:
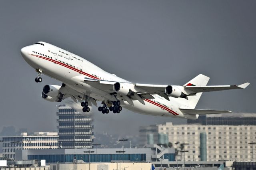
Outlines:
<svg viewBox="0 0 256 170"><path fill-rule="evenodd" d="M208 115L208 114L219 114L219 113L233 113L232 111L220 111L220 110L203 110L203 109L182 109L180 111L185 115Z"/></svg>

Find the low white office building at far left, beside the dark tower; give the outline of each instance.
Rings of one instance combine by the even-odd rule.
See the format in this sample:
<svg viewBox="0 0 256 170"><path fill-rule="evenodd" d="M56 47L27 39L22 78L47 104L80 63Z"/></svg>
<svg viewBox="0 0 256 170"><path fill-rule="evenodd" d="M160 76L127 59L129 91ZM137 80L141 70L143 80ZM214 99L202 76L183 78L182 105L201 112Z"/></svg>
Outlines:
<svg viewBox="0 0 256 170"><path fill-rule="evenodd" d="M15 150L34 150L34 149L57 149L57 132L34 132L28 135L22 132L20 136L1 136L3 143L4 158L15 159Z"/></svg>

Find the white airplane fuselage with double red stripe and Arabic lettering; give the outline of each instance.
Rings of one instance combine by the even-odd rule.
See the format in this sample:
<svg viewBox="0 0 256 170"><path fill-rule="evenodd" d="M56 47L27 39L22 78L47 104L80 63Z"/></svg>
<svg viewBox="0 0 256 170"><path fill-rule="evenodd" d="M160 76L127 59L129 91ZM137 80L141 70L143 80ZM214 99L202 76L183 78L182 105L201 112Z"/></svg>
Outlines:
<svg viewBox="0 0 256 170"><path fill-rule="evenodd" d="M62 81L79 93L88 95L98 101L104 101L105 99L114 101L112 95L99 88L92 87L89 83L84 82L84 78L129 82L100 69L100 67L78 55L49 43L42 43L44 45L33 44L21 49L26 62L34 69L42 70L43 74ZM178 99L169 97L170 101L168 101L159 95L152 96L155 99L144 99L145 105L137 100L133 101L133 106L126 101L122 102L121 105L126 109L144 115L196 119L194 115L191 117L189 117L190 115L183 115L179 108L187 106L180 103Z"/></svg>

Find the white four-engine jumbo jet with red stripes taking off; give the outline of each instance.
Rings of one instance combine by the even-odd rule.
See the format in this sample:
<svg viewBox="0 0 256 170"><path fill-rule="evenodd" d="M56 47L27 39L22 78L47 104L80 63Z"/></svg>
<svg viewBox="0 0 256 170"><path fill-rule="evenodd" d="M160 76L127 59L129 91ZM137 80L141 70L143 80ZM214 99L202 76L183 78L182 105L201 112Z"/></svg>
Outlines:
<svg viewBox="0 0 256 170"><path fill-rule="evenodd" d="M38 73L37 83L42 82L42 74L62 82L62 85L45 85L43 99L61 102L71 98L81 103L83 112L89 112L92 105L98 107L96 101L101 101L98 111L103 114L120 113L124 107L144 115L195 120L199 115L232 113L195 109L203 92L245 89L250 84L207 86L210 78L202 74L184 85L132 83L46 42L23 47L21 55Z"/></svg>

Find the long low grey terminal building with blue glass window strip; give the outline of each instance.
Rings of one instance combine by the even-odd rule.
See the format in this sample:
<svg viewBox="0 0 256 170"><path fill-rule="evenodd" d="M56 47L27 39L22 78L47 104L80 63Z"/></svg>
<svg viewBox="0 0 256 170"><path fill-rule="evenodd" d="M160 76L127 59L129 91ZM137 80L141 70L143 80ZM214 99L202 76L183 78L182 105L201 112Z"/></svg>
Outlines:
<svg viewBox="0 0 256 170"><path fill-rule="evenodd" d="M86 152L86 153L85 153ZM74 160L84 162L155 162L175 160L174 148L160 148L147 145L146 148L93 148L93 149L54 149L54 150L16 150L19 160L45 159L46 163L70 163Z"/></svg>

